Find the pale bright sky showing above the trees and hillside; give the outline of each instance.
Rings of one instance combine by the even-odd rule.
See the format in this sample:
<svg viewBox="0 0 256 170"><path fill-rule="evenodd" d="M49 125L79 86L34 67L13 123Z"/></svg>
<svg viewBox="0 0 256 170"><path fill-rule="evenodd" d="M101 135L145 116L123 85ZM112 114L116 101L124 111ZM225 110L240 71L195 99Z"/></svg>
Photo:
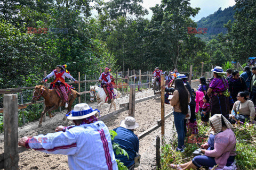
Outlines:
<svg viewBox="0 0 256 170"><path fill-rule="evenodd" d="M229 6L234 6L235 0L191 0L191 7L200 7L201 10L192 18L195 21L199 21L201 18L206 17L210 14L213 14L215 11L221 7L222 10ZM156 4L161 4L161 0L144 0L142 6L147 8L149 14L145 18L151 19L152 11L149 7L153 7Z"/></svg>

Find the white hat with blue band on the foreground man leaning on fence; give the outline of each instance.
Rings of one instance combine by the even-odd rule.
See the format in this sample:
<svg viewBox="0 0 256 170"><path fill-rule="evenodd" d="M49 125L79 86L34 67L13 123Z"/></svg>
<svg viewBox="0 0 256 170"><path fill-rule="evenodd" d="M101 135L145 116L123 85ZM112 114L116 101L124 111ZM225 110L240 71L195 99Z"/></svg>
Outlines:
<svg viewBox="0 0 256 170"><path fill-rule="evenodd" d="M69 120L79 120L95 115L97 112L99 112L98 109L92 109L86 103L80 103L75 105L74 110L71 111L70 115L67 115L67 118Z"/></svg>

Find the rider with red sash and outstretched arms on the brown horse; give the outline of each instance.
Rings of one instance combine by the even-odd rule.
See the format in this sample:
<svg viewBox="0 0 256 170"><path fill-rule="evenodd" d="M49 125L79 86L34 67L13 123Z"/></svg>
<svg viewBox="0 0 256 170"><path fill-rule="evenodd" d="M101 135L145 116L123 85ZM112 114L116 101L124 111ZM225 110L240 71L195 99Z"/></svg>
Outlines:
<svg viewBox="0 0 256 170"><path fill-rule="evenodd" d="M75 83L78 83L78 81L76 79L74 79L68 72L65 71L64 68L66 68L67 65L57 65L56 66L56 69L53 70L50 74L48 74L44 79L43 81L41 81L41 83L47 81L47 79L49 79L50 77L53 77L54 76L54 81L51 83L51 88L54 88L55 86L59 86L60 87L60 90L63 94L63 98L66 102L65 104L65 108L68 107L68 94L67 94L67 91L66 91L66 88L68 90L71 89L71 87L65 82L65 78L69 78L71 79L72 81L74 81Z"/></svg>

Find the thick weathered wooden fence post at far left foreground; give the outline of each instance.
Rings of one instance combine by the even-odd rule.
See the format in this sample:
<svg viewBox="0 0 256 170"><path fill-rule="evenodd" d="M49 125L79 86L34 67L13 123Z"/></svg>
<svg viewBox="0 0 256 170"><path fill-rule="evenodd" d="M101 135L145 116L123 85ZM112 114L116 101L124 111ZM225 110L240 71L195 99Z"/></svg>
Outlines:
<svg viewBox="0 0 256 170"><path fill-rule="evenodd" d="M4 169L19 169L18 95L4 95Z"/></svg>

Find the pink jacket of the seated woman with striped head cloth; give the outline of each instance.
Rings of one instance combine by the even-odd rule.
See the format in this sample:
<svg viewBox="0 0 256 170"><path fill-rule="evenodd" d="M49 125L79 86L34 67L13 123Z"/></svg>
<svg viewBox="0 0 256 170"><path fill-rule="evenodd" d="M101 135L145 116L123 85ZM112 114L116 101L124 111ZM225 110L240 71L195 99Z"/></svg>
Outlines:
<svg viewBox="0 0 256 170"><path fill-rule="evenodd" d="M219 164L218 168L223 168L227 164L227 160L230 155L234 155L236 151L236 137L231 129L227 129L223 132L215 135L214 149L205 150L205 155L214 157L215 162Z"/></svg>

